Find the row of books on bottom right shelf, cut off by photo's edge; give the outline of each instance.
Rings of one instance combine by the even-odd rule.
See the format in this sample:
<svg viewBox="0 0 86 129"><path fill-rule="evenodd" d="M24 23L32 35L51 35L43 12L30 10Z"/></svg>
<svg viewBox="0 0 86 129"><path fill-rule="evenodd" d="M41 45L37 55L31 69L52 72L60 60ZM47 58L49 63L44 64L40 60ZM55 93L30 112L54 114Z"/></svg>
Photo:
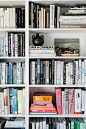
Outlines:
<svg viewBox="0 0 86 129"><path fill-rule="evenodd" d="M29 129L85 129L84 118L30 118Z"/></svg>

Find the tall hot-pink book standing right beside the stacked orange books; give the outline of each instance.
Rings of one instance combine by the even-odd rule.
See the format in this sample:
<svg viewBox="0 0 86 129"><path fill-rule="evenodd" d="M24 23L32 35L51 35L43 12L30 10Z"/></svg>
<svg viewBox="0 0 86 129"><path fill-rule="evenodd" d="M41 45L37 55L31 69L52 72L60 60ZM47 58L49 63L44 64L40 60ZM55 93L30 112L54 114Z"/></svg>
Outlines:
<svg viewBox="0 0 86 129"><path fill-rule="evenodd" d="M62 114L62 95L61 95L61 89L55 89L56 93L56 107L57 107L57 113Z"/></svg>

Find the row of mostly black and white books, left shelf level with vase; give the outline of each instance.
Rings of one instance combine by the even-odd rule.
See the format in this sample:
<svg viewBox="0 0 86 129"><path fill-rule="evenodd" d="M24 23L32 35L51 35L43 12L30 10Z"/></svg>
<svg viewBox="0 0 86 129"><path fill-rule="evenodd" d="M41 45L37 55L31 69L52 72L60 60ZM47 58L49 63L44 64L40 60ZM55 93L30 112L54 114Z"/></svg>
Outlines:
<svg viewBox="0 0 86 129"><path fill-rule="evenodd" d="M0 38L0 56L25 56L25 34L3 33Z"/></svg>

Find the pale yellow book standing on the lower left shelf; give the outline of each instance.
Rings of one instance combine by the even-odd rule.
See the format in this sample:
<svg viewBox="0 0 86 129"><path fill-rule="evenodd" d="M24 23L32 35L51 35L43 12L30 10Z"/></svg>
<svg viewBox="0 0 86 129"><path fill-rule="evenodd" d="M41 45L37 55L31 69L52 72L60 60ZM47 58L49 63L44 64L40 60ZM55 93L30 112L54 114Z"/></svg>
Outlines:
<svg viewBox="0 0 86 129"><path fill-rule="evenodd" d="M18 114L23 114L23 90L18 90Z"/></svg>

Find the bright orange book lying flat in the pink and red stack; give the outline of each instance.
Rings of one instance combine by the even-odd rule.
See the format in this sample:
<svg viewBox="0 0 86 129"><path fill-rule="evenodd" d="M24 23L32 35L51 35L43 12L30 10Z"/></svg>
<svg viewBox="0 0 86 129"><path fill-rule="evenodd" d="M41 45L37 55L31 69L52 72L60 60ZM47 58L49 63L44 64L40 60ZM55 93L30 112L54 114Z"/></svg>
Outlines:
<svg viewBox="0 0 86 129"><path fill-rule="evenodd" d="M52 102L52 96L33 96L33 102Z"/></svg>

